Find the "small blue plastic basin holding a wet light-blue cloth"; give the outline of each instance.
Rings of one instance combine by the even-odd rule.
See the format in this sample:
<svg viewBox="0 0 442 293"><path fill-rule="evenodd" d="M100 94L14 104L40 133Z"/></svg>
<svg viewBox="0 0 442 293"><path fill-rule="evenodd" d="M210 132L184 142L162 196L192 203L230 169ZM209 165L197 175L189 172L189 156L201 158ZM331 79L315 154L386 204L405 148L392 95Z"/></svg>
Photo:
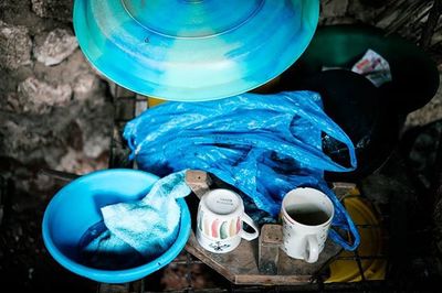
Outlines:
<svg viewBox="0 0 442 293"><path fill-rule="evenodd" d="M103 283L139 280L168 264L185 248L190 236L190 213L182 198L177 199L181 208L178 237L162 256L124 270L91 268L81 261L83 235L103 220L99 208L140 199L156 181L156 175L129 169L97 171L74 180L55 194L44 211L42 232L48 251L73 273Z"/></svg>

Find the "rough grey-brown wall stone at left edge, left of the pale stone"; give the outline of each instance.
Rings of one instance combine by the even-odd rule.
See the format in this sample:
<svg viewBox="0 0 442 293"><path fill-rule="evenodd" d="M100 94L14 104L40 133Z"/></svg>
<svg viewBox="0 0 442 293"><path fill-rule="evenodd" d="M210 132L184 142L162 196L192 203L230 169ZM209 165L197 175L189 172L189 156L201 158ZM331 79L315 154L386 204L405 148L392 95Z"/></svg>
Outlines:
<svg viewBox="0 0 442 293"><path fill-rule="evenodd" d="M0 67L17 69L31 64L32 41L27 28L0 20Z"/></svg>

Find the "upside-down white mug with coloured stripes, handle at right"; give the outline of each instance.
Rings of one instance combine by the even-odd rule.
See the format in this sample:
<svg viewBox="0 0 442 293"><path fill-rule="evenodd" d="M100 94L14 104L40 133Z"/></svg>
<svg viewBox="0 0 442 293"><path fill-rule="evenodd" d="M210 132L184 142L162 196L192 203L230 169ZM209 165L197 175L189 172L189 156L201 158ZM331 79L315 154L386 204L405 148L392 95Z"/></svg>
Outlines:
<svg viewBox="0 0 442 293"><path fill-rule="evenodd" d="M244 231L243 221L254 232ZM218 188L201 197L197 216L197 240L201 247L214 253L225 253L235 249L241 238L253 240L257 235L259 229L244 213L244 204L236 193Z"/></svg>

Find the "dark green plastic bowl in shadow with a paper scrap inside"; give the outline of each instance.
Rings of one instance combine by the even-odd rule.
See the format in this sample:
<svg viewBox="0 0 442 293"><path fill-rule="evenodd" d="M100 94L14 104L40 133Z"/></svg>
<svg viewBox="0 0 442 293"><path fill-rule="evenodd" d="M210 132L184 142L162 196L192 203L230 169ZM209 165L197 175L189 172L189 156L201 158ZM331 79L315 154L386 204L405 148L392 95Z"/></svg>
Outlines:
<svg viewBox="0 0 442 293"><path fill-rule="evenodd" d="M290 70L282 75L284 89L294 79L319 73L325 67L351 66L373 50L385 57L391 69L392 82L381 89L383 101L399 115L407 115L428 104L439 88L436 64L419 46L397 35L386 35L370 25L339 24L318 28L311 44Z"/></svg>

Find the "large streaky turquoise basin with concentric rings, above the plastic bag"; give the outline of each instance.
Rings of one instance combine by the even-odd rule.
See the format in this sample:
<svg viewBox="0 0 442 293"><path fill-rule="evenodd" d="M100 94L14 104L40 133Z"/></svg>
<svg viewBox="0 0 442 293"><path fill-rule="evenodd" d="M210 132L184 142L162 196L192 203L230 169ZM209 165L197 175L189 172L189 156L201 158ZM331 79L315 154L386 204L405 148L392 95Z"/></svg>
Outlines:
<svg viewBox="0 0 442 293"><path fill-rule="evenodd" d="M75 0L90 63L135 93L202 101L256 88L311 42L318 0Z"/></svg>

